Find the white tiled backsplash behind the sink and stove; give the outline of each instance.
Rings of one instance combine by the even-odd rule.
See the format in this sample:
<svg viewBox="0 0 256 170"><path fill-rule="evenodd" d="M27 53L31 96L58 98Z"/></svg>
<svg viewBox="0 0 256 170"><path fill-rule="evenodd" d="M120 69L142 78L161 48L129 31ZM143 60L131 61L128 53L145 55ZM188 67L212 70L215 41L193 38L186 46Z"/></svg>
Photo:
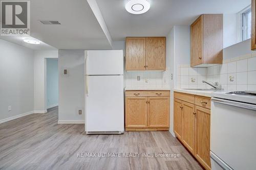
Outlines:
<svg viewBox="0 0 256 170"><path fill-rule="evenodd" d="M178 67L178 88L211 88L202 80L219 82L225 90L256 90L256 57L250 55L208 68Z"/></svg>

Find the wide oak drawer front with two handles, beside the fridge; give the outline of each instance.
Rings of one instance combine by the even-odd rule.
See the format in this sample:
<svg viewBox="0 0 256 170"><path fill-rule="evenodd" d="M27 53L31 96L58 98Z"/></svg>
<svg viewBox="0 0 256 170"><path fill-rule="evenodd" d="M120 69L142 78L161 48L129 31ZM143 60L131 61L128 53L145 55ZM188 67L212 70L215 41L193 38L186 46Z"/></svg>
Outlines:
<svg viewBox="0 0 256 170"><path fill-rule="evenodd" d="M155 91L155 90L144 90L144 91L125 91L125 96L170 96L170 91Z"/></svg>

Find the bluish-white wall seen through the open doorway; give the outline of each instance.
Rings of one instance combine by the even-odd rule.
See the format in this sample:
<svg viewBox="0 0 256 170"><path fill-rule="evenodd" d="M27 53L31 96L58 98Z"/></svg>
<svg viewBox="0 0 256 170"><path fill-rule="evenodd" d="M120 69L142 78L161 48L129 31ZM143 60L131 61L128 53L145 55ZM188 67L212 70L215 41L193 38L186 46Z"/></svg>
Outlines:
<svg viewBox="0 0 256 170"><path fill-rule="evenodd" d="M58 59L47 58L47 108L58 106Z"/></svg>

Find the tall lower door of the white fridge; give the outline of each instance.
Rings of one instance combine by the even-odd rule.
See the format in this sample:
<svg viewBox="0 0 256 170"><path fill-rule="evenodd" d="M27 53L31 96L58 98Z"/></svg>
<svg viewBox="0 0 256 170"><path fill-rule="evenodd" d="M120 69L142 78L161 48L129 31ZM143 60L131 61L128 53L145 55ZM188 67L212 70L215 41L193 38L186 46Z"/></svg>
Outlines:
<svg viewBox="0 0 256 170"><path fill-rule="evenodd" d="M124 131L123 76L86 76L86 81L86 131Z"/></svg>

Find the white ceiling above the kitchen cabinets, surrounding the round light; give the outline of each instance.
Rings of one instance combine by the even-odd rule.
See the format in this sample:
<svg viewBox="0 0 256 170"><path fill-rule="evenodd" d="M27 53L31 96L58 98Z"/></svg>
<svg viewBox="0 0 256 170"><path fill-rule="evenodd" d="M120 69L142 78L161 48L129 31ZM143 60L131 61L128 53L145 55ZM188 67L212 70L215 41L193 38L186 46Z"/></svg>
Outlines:
<svg viewBox="0 0 256 170"><path fill-rule="evenodd" d="M148 0L151 8L134 15L125 10L127 0L97 0L114 41L127 36L166 36L173 26L190 25L203 13L237 13L251 0Z"/></svg>

